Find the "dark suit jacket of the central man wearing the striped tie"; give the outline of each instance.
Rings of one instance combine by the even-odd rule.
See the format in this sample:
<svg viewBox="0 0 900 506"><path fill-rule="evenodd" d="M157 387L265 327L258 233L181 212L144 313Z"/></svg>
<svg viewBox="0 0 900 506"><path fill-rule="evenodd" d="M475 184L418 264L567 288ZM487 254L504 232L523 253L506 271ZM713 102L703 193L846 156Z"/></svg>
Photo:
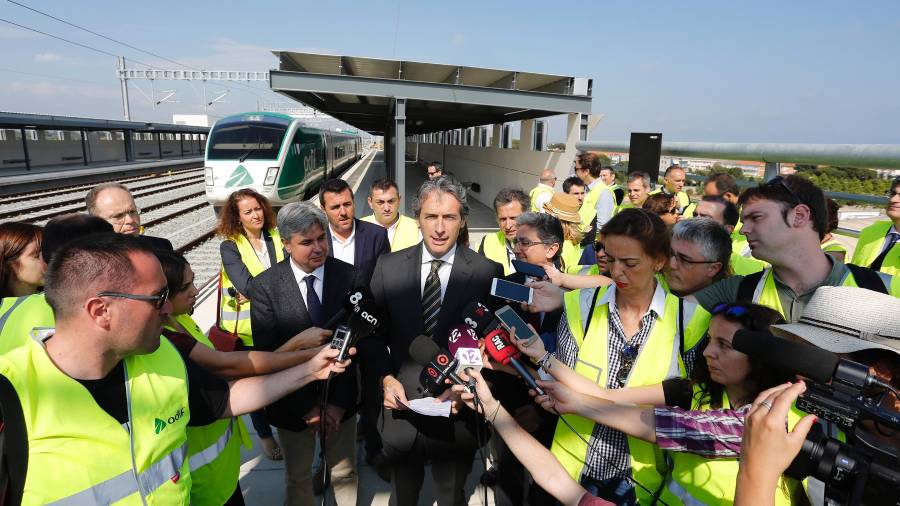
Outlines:
<svg viewBox="0 0 900 506"><path fill-rule="evenodd" d="M423 332L421 266L423 244L382 256L372 276L372 295L383 310L383 321L375 338L360 341L361 360L377 371L378 377L394 375L404 386L408 399L427 397L419 384L422 366L409 356L409 345ZM500 264L488 260L464 246L457 246L450 280L438 314L434 341L447 348L447 334L462 321L462 312L472 300L488 302L491 281L503 277ZM464 410L468 411L468 410ZM468 411L471 414L471 411ZM454 420L423 417L407 411L386 414L406 420L412 425L390 427L385 422L382 436L386 444L392 439L414 439L416 431L436 439L459 438ZM470 420L471 421L471 420ZM474 446L472 446L474 449Z"/></svg>

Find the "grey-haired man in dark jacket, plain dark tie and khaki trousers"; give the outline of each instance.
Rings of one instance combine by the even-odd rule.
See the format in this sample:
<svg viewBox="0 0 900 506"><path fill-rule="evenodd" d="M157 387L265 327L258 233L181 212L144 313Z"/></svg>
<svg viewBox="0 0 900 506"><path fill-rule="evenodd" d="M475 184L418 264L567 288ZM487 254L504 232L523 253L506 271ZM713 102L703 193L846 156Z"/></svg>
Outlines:
<svg viewBox="0 0 900 506"><path fill-rule="evenodd" d="M321 325L343 306L346 294L364 285L360 272L328 256L328 220L309 202L295 202L278 213L278 231L288 258L275 264L250 285L254 342L275 350L309 327ZM314 384L266 408L269 423L278 428L284 453L286 504L313 504L310 467L316 432L324 427L331 485L340 506L356 504L356 374L336 376L325 412L320 412L322 385Z"/></svg>

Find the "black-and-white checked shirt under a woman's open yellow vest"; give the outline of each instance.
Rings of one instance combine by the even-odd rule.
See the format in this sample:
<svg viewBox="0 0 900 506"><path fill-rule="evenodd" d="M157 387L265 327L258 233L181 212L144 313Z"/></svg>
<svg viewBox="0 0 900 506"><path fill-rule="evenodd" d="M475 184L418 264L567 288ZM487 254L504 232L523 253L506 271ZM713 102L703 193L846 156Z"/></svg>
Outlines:
<svg viewBox="0 0 900 506"><path fill-rule="evenodd" d="M592 290L585 290L585 296L593 296ZM638 356L643 350L644 343L653 331L656 320L662 316L665 308L666 293L661 285L657 285L653 294L650 309L641 317L640 330L632 336L630 343L638 348ZM604 296L597 301L597 306L608 304L608 363L606 373L606 388L620 388L616 377L622 365L622 349L629 344L622 329L622 320L619 317L619 309L615 302L615 285L609 287ZM587 313L583 312L584 317ZM557 360L568 367L574 368L578 357L578 344L569 329L565 312L559 320L557 329ZM589 440L590 446L587 452L583 475L594 480L607 480L610 478L622 478L631 474L631 462L628 451L628 439L625 433L611 429L606 425L594 424L594 430Z"/></svg>

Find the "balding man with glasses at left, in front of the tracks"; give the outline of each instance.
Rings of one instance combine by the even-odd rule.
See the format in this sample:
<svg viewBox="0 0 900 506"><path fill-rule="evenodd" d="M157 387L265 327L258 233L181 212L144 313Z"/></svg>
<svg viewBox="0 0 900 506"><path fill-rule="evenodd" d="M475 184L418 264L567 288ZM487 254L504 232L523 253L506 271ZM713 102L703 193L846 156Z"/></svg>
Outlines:
<svg viewBox="0 0 900 506"><path fill-rule="evenodd" d="M155 250L172 251L165 237L143 235L141 210L128 187L121 183L103 183L91 188L84 197L88 214L106 220L117 234L140 237Z"/></svg>

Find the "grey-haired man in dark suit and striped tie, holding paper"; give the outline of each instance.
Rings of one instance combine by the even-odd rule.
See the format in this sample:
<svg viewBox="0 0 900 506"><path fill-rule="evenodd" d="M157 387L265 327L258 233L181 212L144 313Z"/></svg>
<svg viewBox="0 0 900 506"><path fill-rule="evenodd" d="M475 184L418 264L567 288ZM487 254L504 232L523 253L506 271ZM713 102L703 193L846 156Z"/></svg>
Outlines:
<svg viewBox="0 0 900 506"><path fill-rule="evenodd" d="M375 339L360 342L360 361L382 378L381 437L391 466L391 504L418 504L425 464L430 462L437 503L451 506L464 502L477 446L477 417L465 408L450 418L408 409L408 399L427 396L419 385L422 366L410 357L409 346L424 334L446 348L447 334L462 321L466 304L487 300L491 280L501 277L503 269L457 244L469 207L465 189L455 181L426 181L413 211L423 242L384 255L375 266L371 288L383 321Z"/></svg>

